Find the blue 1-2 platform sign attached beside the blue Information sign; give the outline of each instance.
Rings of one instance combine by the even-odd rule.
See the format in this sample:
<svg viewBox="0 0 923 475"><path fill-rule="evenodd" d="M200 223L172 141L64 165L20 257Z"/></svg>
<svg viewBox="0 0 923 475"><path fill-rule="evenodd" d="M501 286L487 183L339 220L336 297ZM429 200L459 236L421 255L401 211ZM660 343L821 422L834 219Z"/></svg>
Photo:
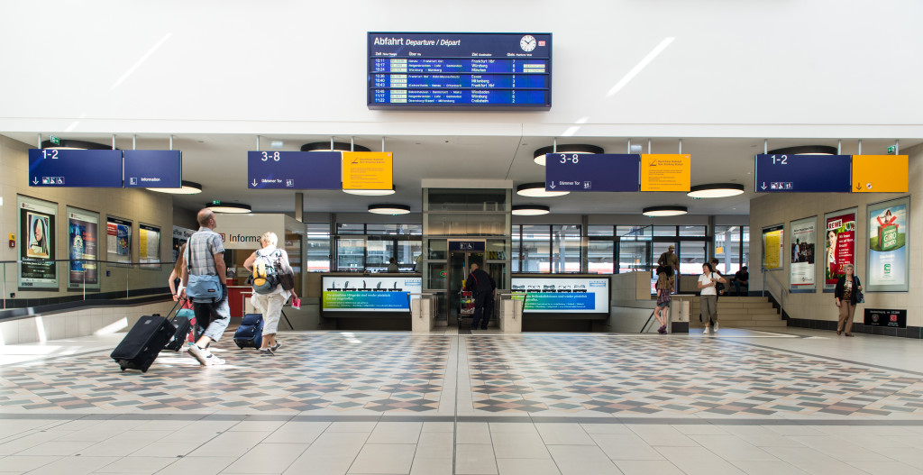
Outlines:
<svg viewBox="0 0 923 475"><path fill-rule="evenodd" d="M121 188L122 150L31 148L29 185Z"/></svg>

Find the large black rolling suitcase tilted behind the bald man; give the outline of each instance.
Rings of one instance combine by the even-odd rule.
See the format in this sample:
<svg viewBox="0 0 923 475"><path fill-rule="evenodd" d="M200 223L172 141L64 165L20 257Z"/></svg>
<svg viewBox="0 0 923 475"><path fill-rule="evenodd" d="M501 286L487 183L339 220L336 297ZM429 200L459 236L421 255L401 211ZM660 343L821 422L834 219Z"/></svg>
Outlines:
<svg viewBox="0 0 923 475"><path fill-rule="evenodd" d="M122 342L109 355L122 371L141 370L147 373L163 346L176 334L176 327L160 315L144 315L128 330Z"/></svg>

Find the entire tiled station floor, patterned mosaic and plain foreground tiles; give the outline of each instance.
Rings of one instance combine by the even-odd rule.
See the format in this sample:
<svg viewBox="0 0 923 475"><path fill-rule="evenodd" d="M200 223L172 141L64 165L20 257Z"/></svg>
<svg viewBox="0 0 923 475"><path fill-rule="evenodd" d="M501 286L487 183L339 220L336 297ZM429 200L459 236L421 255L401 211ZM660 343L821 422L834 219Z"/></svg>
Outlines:
<svg viewBox="0 0 923 475"><path fill-rule="evenodd" d="M275 357L0 347L2 473L921 473L923 342L291 332Z"/></svg>

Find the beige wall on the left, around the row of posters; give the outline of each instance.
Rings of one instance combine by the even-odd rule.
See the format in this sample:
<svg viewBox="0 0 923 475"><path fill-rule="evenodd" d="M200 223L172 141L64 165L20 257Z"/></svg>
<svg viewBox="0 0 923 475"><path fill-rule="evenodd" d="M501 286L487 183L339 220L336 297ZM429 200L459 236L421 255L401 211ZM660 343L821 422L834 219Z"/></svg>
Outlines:
<svg viewBox="0 0 923 475"><path fill-rule="evenodd" d="M132 258L138 260L138 223L144 222L161 228L162 239L160 243L162 261L172 261L172 235L173 235L173 198L170 195L154 193L143 189L110 189L110 188L30 188L29 175L29 148L34 148L16 140L0 136L0 233L6 241L10 232L17 234L18 243L21 245L22 236L17 229L17 195L30 196L57 204L56 239L57 256L66 259L68 256L67 240L61 236L67 233L66 207L82 208L100 214L100 259L105 259L105 220L106 216L114 216L133 221ZM0 247L0 260L15 261L19 248L10 248L8 245ZM16 265L6 266L6 297L9 292L17 292L17 299L49 298L65 295L66 292L66 265L58 267L59 291L18 291ZM124 291L126 284L131 289L166 286L166 276L170 273L169 266L162 270L139 270L113 268L112 275L105 277L102 269L100 279L101 291ZM165 273L164 273L165 272Z"/></svg>

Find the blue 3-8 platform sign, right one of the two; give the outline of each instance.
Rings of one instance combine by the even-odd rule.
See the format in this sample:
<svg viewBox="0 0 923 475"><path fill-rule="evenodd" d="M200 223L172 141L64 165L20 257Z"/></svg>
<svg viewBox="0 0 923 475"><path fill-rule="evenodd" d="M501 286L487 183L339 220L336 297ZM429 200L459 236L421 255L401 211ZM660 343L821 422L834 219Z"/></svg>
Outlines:
<svg viewBox="0 0 923 475"><path fill-rule="evenodd" d="M639 191L641 155L549 153L546 191Z"/></svg>

